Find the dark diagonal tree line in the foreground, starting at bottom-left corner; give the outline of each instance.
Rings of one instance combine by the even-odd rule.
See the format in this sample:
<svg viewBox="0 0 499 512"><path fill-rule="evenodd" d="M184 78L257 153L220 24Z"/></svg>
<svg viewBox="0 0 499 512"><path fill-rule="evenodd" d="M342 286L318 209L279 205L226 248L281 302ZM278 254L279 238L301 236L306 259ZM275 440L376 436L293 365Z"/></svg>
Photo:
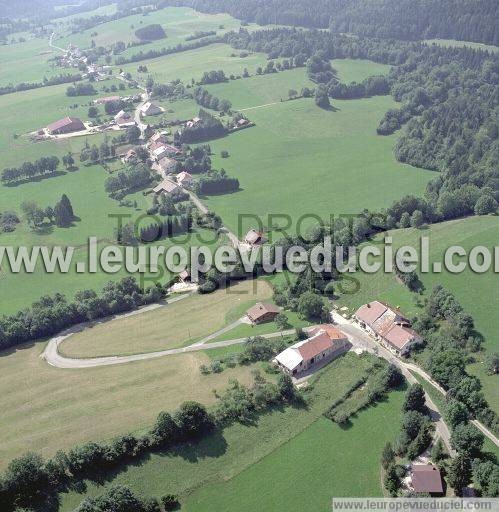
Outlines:
<svg viewBox="0 0 499 512"><path fill-rule="evenodd" d="M173 414L160 412L155 423L141 435L125 434L108 443L89 442L68 452L60 450L49 460L28 452L13 459L1 476L0 508L12 512L21 507L43 507L54 502L59 492L67 491L85 479L98 480L113 469L148 453L164 453L186 443L197 442L214 431L234 422L242 423L278 403L301 401L301 395L294 389L289 376L281 374L274 383L256 371L251 387L233 381L211 411L197 402L184 402ZM123 492L128 495L125 498L132 499L133 503L132 496ZM121 499L112 503L113 510L122 503ZM175 502L175 496L169 495L163 505L174 508ZM87 498L77 510L101 512L102 509L97 508L100 503L102 499ZM134 504L138 507L133 508L134 512L144 510L140 508L143 503ZM151 506L154 508L145 510L158 510L156 503ZM171 510L166 506L166 510Z"/></svg>

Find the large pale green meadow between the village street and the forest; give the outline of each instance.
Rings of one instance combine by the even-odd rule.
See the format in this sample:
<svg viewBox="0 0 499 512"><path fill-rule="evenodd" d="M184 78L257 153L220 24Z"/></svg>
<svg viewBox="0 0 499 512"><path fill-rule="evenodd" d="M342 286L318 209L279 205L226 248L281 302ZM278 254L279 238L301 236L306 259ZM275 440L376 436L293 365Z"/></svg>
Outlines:
<svg viewBox="0 0 499 512"><path fill-rule="evenodd" d="M352 76L360 78L356 66ZM372 74L372 66L365 74ZM239 234L257 223L238 222L240 214L255 215L268 226L273 222L267 212L297 223L310 214L329 219L376 210L404 194L422 193L435 176L395 160L397 135L376 134L384 113L396 106L390 97L333 100L331 110L318 108L313 99L281 101L289 89L306 85L305 70L298 69L209 87L256 123L211 142L214 166L237 177L241 190L207 198L206 204ZM220 158L222 150L230 158Z"/></svg>

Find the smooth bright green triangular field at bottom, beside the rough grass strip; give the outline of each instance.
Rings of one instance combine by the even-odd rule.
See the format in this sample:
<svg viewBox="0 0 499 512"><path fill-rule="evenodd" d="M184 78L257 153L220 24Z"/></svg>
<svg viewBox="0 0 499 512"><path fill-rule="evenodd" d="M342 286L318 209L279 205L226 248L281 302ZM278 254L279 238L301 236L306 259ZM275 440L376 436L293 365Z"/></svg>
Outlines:
<svg viewBox="0 0 499 512"><path fill-rule="evenodd" d="M185 508L325 512L334 496L382 496L378 460L396 435L401 404L402 393L392 393L348 429L321 417L235 478L202 487Z"/></svg>

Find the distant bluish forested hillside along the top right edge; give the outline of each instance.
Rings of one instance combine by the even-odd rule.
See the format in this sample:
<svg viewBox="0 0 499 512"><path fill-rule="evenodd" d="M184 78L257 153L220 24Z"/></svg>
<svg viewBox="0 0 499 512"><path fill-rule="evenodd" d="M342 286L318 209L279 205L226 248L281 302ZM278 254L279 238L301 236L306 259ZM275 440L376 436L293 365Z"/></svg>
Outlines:
<svg viewBox="0 0 499 512"><path fill-rule="evenodd" d="M331 28L334 33L418 40L461 39L499 45L495 0L163 0L160 6L228 12L260 25Z"/></svg>

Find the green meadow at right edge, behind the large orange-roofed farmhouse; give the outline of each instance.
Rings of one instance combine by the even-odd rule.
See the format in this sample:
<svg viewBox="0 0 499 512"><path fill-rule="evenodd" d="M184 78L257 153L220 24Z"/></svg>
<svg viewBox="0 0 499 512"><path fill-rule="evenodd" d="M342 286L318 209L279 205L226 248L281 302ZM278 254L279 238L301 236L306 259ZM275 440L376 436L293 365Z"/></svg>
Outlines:
<svg viewBox="0 0 499 512"><path fill-rule="evenodd" d="M434 224L425 230L394 230L389 235L393 237L394 248L410 245L418 250L420 238L427 236L432 265L435 261L443 262L444 251L453 245L461 246L468 252L475 246L485 246L493 251L494 244L499 240L499 217L469 217ZM418 296L399 284L394 274L358 273L354 277L358 279L359 290L352 294L343 294L339 299L339 304L346 305L351 311L373 299L400 306L410 316L419 311L416 304ZM484 336L484 352L476 355L477 362L470 365L468 370L480 378L489 404L495 411L499 411L497 376L487 375L483 364L488 354L499 350L499 275L493 269L477 274L467 268L461 274L447 271L424 274L420 272L420 278L426 288L425 295L431 293L435 285L442 284L456 295L463 308L473 316L477 330ZM345 283L345 287L347 286L348 283Z"/></svg>

